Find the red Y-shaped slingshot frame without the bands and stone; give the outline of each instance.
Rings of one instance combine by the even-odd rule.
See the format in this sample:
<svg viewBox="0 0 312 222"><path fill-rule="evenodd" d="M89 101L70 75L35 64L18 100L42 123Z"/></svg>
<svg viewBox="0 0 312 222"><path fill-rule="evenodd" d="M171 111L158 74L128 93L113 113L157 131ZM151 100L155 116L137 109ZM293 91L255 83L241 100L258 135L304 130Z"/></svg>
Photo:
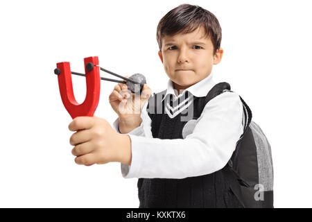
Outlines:
<svg viewBox="0 0 312 222"><path fill-rule="evenodd" d="M85 80L87 82L87 94L85 101L77 103L73 95L73 83L71 82L71 68L69 62L58 62L56 66L60 69L58 74L58 86L64 107L71 115L72 119L76 117L93 117L100 99L101 77L98 66L98 57L92 56L85 58ZM87 69L87 64L92 62L92 70Z"/></svg>

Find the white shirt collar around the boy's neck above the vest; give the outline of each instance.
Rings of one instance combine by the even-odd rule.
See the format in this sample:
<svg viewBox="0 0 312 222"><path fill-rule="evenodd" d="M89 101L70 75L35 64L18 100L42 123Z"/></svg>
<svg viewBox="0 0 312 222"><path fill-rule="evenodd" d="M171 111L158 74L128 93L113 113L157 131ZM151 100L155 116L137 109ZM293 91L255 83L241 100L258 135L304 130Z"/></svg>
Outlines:
<svg viewBox="0 0 312 222"><path fill-rule="evenodd" d="M214 80L212 78L213 75L214 74L211 72L209 76L207 76L206 78L200 80L198 83L194 85L191 85L187 89L184 89L183 92L179 96L176 96L175 92L177 90L173 88L173 81L169 78L166 94L164 95L164 98L162 99L162 101L166 99L166 96L168 96L168 94L173 94L173 98L175 97L179 98L180 96L183 96L186 91L191 92L191 94L193 94L193 96L196 96L196 97L206 96L209 90L215 85Z"/></svg>

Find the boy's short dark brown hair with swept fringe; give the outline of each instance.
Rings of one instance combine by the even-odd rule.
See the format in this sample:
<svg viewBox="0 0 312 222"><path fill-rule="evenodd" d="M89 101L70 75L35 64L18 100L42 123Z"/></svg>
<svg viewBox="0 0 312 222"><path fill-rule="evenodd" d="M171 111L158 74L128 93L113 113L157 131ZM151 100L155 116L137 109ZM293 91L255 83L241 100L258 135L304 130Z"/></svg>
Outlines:
<svg viewBox="0 0 312 222"><path fill-rule="evenodd" d="M162 51L162 37L166 35L192 33L200 26L205 28L205 37L210 37L214 45L214 55L220 49L222 30L218 19L204 8L182 4L169 11L157 26L157 43Z"/></svg>

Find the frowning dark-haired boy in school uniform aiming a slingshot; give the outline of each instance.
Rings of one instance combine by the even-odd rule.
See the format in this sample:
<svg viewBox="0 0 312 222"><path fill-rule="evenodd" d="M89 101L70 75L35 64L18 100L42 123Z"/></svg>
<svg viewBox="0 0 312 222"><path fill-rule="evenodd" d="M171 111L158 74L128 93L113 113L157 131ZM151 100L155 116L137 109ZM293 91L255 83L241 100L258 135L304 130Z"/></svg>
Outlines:
<svg viewBox="0 0 312 222"><path fill-rule="evenodd" d="M218 19L182 4L160 20L157 42L167 89L150 96L144 85L138 100L116 85L115 130L98 117L74 119L70 130L85 129L71 136L76 163L121 162L124 178L139 178L139 207L242 207L220 171L243 133L241 99L223 92L199 109L223 56Z"/></svg>

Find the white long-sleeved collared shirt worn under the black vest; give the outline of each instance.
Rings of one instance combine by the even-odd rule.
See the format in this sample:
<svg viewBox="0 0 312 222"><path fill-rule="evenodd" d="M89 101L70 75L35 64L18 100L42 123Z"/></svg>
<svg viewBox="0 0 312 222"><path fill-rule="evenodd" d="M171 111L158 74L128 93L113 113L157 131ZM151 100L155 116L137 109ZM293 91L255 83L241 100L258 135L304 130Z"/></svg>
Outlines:
<svg viewBox="0 0 312 222"><path fill-rule="evenodd" d="M173 94L175 101L186 91L193 96L206 96L216 85L212 77L211 73L179 96L169 79L164 99ZM141 112L141 125L127 133L131 139L132 161L130 166L121 164L123 178L182 179L214 173L225 167L243 134L243 104L235 92L223 92L211 99L200 117L191 120L193 126L184 139L153 138L147 104ZM113 128L119 132L119 118Z"/></svg>

